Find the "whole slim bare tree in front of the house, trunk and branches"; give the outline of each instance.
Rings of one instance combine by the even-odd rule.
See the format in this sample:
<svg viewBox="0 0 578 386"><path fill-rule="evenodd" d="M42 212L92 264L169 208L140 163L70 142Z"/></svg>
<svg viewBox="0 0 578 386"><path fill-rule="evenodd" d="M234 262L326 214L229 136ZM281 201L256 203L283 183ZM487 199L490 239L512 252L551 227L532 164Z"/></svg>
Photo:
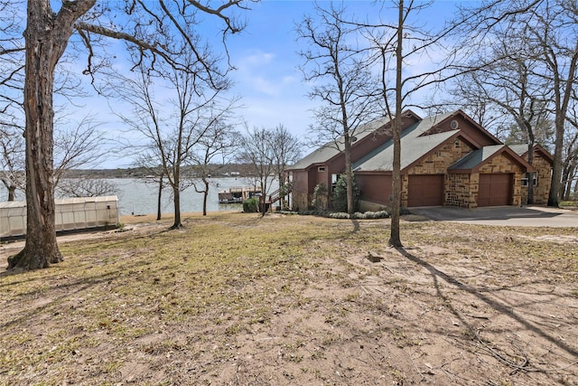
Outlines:
<svg viewBox="0 0 578 386"><path fill-rule="evenodd" d="M452 31L452 26L437 32L426 31L412 20L415 14L427 9L431 3L404 0L394 2L395 23L365 24L364 35L369 49L373 51L372 64L378 71L378 89L383 116L393 122L394 159L392 171L393 202L391 208L391 231L388 245L403 246L399 220L401 214L401 131L403 112L407 108L420 107L412 98L418 91L433 88L459 73L448 56L443 61L433 61L433 52L446 52L443 39ZM417 26L416 26L417 25ZM445 55L440 55L445 56ZM406 71L412 61L429 61L427 71Z"/></svg>

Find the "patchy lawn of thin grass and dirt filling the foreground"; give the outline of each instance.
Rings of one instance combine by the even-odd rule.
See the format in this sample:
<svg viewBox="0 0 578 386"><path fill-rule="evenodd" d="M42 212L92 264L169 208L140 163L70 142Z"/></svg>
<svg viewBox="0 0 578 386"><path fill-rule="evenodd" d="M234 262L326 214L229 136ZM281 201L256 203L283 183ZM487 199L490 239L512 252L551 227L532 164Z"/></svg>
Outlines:
<svg viewBox="0 0 578 386"><path fill-rule="evenodd" d="M578 385L578 228L185 217L0 274L0 384Z"/></svg>

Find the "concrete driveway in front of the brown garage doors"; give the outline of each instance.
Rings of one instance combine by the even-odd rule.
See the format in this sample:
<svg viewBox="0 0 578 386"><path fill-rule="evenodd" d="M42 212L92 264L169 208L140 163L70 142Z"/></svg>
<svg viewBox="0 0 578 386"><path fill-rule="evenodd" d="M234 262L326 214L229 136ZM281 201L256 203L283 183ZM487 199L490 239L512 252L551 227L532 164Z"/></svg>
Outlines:
<svg viewBox="0 0 578 386"><path fill-rule="evenodd" d="M410 212L431 221L517 227L578 227L578 212L542 206L494 206L464 209L452 206L410 208Z"/></svg>

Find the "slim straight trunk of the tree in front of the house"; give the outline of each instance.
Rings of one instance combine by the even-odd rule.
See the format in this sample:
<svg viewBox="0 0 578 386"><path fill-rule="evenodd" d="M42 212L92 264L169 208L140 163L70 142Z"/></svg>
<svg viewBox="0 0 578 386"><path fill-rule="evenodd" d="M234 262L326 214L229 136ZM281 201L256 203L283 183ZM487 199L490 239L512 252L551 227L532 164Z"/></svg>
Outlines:
<svg viewBox="0 0 578 386"><path fill-rule="evenodd" d="M394 165L392 175L392 190L394 201L391 203L391 233L387 244L401 248L399 217L401 214L401 109L402 109L402 43L404 39L404 0L399 0L397 19L397 46L396 46L396 116L394 117Z"/></svg>

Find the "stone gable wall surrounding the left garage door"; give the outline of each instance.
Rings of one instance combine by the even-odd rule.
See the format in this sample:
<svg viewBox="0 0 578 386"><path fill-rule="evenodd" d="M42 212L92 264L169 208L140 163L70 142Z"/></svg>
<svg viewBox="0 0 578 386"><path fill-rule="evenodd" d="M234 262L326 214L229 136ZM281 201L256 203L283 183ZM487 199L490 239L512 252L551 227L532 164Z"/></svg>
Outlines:
<svg viewBox="0 0 578 386"><path fill-rule="evenodd" d="M451 202L460 202L460 204L457 206L462 206L464 204L469 205L471 198L466 197L461 191L455 191L455 187L452 187L452 184L454 184L453 180L451 176L447 174L448 167L453 165L456 161L469 154L473 150L471 146L461 141L461 139L458 138L456 141L457 143L452 141L441 146L430 155L427 155L423 159L419 160L410 169L407 170L407 174L446 174L443 184L445 204L454 205L454 203ZM406 175L402 175L402 206L407 206L408 187L409 179ZM452 191L454 193L452 193ZM468 206L464 207L467 208Z"/></svg>

